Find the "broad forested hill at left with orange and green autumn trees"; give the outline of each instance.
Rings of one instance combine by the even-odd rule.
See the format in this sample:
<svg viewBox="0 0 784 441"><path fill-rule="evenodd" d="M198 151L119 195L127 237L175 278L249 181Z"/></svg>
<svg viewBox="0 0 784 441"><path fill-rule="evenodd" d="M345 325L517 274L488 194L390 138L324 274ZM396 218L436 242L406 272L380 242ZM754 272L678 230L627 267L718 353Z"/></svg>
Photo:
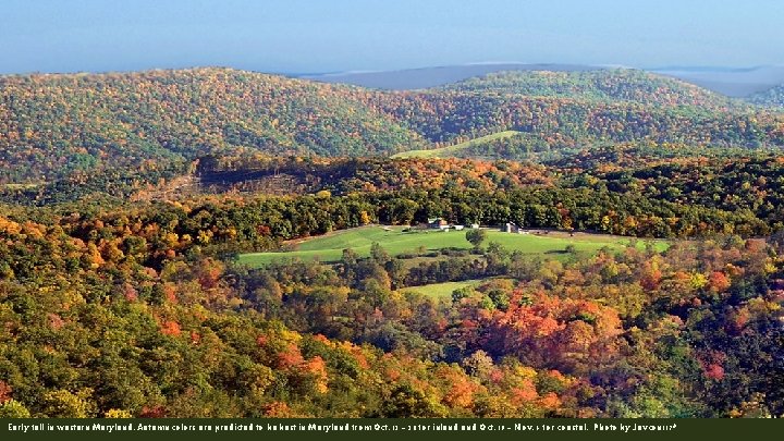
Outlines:
<svg viewBox="0 0 784 441"><path fill-rule="evenodd" d="M364 94L229 69L0 77L0 182L241 146L359 156L420 144Z"/></svg>

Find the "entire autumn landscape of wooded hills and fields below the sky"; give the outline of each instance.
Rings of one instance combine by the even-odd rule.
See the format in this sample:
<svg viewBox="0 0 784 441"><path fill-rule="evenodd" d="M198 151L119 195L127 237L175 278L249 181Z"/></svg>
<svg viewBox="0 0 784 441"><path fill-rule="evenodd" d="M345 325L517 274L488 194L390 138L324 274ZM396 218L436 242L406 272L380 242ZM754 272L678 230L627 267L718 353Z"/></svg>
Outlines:
<svg viewBox="0 0 784 441"><path fill-rule="evenodd" d="M0 77L0 417L784 415L777 89L562 68Z"/></svg>

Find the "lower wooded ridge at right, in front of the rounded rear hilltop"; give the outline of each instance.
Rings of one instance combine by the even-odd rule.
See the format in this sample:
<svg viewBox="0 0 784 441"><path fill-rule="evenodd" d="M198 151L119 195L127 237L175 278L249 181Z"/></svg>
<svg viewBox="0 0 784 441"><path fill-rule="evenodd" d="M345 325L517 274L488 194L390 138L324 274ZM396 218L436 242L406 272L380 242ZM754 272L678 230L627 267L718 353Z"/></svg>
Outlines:
<svg viewBox="0 0 784 441"><path fill-rule="evenodd" d="M467 91L404 93L385 98L384 111L406 121L437 147L503 131L525 132L565 147L630 140L722 147L784 145L784 117L764 111Z"/></svg>

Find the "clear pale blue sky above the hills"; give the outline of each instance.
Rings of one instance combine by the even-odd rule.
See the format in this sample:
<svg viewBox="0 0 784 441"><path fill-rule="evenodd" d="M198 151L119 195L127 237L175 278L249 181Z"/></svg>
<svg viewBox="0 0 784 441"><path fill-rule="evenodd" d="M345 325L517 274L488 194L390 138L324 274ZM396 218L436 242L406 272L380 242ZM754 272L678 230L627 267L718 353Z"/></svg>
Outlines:
<svg viewBox="0 0 784 441"><path fill-rule="evenodd" d="M0 0L0 73L784 63L781 0Z"/></svg>

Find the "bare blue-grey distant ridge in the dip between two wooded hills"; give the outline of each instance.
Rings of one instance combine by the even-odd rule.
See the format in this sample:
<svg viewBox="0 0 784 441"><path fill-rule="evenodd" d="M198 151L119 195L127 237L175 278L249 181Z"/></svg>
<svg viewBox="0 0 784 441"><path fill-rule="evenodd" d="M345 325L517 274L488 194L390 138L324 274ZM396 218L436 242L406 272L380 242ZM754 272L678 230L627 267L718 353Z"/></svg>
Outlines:
<svg viewBox="0 0 784 441"><path fill-rule="evenodd" d="M444 86L474 76L502 71L584 72L603 69L605 68L583 64L477 63L383 72L310 74L301 75L299 77L323 83L351 84L376 89L414 90Z"/></svg>

